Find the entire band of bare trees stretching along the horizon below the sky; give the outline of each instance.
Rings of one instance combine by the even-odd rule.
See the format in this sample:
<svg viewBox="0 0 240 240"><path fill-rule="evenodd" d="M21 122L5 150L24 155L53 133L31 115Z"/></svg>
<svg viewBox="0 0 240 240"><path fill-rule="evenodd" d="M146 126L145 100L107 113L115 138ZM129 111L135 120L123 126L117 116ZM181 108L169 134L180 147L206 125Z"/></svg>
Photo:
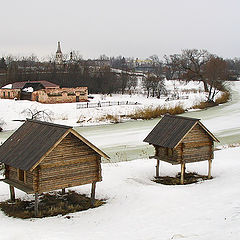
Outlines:
<svg viewBox="0 0 240 240"><path fill-rule="evenodd" d="M66 57L67 59L67 57ZM208 101L213 101L218 91L223 90L225 81L240 75L240 60L224 60L207 50L185 49L179 54L165 55L161 61L157 55L149 57L151 65L144 73L143 87L148 96L160 97L166 92L164 79L200 81L208 92ZM90 93L124 93L137 85L133 59L122 56L109 58L102 55L96 60L83 60L79 52L71 54L71 61L57 66L50 61L39 61L34 55L0 59L0 85L16 81L48 80L62 87L87 86ZM120 69L121 71L114 71Z"/></svg>

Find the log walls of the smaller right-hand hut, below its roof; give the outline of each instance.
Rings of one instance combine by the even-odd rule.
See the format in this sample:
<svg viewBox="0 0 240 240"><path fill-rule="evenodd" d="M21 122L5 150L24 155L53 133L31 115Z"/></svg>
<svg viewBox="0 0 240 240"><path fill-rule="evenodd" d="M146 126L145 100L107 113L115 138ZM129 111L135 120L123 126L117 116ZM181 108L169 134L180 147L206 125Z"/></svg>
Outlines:
<svg viewBox="0 0 240 240"><path fill-rule="evenodd" d="M182 161L189 163L213 159L213 140L198 124L176 148L154 147L156 156L160 160L171 164L180 164Z"/></svg>

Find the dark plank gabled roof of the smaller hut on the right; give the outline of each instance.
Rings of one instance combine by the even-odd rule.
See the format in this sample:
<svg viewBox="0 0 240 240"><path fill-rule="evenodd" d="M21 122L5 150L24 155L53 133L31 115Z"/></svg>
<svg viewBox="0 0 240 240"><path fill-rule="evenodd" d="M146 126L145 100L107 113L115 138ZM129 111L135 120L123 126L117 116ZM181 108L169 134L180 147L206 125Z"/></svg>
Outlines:
<svg viewBox="0 0 240 240"><path fill-rule="evenodd" d="M199 120L197 118L165 115L143 141L161 147L174 148L195 125L199 124L213 141L219 142Z"/></svg>

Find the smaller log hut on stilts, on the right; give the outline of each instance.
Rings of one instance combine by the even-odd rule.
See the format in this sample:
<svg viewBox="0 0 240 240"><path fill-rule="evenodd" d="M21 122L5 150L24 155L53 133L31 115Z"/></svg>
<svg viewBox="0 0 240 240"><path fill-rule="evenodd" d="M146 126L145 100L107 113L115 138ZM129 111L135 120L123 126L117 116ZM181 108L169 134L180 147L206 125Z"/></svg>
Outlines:
<svg viewBox="0 0 240 240"><path fill-rule="evenodd" d="M157 159L156 177L160 176L160 160L181 164L181 184L184 184L185 164L208 160L211 178L214 141L219 140L200 119L165 115L144 139L154 146Z"/></svg>

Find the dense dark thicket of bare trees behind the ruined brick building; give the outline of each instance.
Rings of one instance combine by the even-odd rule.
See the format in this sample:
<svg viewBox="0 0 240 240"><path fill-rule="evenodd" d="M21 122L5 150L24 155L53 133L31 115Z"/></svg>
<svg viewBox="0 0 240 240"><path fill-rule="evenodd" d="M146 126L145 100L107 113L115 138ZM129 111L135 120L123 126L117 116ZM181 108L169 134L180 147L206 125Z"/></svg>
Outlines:
<svg viewBox="0 0 240 240"><path fill-rule="evenodd" d="M61 87L87 86L90 93L110 94L124 93L137 84L135 75L126 70L114 72L110 66L94 66L91 62L89 64L89 61L82 60L62 66L57 66L54 62L32 64L31 61L18 60L9 62L6 66L2 68L6 71L6 76L0 78L1 86L20 81L47 80Z"/></svg>

